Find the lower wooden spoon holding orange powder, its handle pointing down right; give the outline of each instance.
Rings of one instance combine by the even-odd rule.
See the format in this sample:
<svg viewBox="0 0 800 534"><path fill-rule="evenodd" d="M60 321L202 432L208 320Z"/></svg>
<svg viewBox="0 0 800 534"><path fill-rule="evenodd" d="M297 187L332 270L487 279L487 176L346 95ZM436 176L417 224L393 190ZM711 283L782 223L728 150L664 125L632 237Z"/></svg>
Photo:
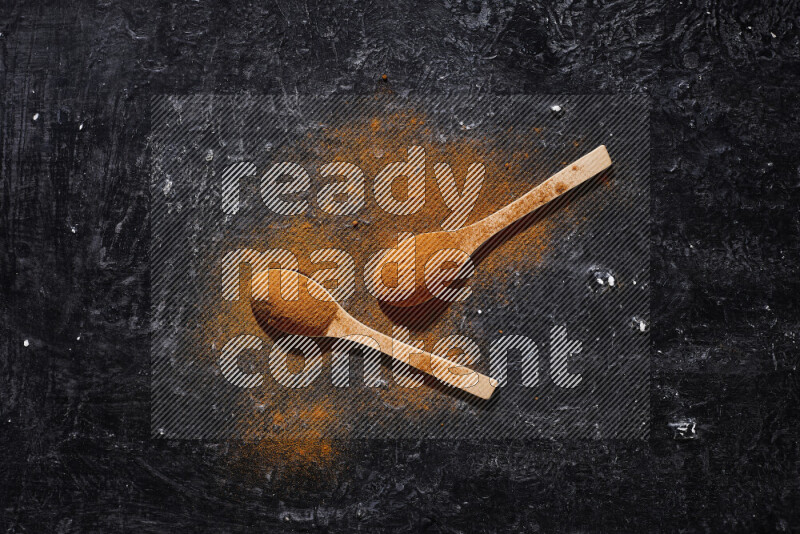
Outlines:
<svg viewBox="0 0 800 534"><path fill-rule="evenodd" d="M297 299L284 299L281 284L297 287ZM497 387L497 381L488 376L401 343L360 323L334 301L324 287L300 273L284 269L253 273L250 295L250 307L262 328L308 337L367 336L377 342L384 354L482 399L489 399ZM409 356L397 356L396 349Z"/></svg>

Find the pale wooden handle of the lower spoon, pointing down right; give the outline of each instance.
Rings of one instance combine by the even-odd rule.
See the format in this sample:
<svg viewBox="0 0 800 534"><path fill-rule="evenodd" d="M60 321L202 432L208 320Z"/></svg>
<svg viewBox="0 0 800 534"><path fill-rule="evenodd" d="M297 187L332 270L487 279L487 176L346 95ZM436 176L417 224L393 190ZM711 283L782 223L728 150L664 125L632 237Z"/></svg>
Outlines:
<svg viewBox="0 0 800 534"><path fill-rule="evenodd" d="M415 369L432 375L445 384L471 393L482 399L489 399L497 387L497 381L473 371L454 361L436 354L420 350L402 341L393 339L373 330L354 319L349 314L346 318L338 318L328 331L331 337L366 336L377 342L380 351Z"/></svg>

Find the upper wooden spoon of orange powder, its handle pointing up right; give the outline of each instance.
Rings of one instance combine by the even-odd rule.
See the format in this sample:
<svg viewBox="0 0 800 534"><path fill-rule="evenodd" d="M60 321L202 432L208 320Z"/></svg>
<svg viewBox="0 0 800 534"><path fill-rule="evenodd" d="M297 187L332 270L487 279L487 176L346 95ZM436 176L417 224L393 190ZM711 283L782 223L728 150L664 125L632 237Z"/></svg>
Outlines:
<svg viewBox="0 0 800 534"><path fill-rule="evenodd" d="M417 306L427 302L433 298L433 295L425 283L425 265L434 253L444 249L462 251L464 254L458 257L451 254L447 258L449 262L448 268L461 269L467 264L466 258L471 256L492 236L537 208L604 171L610 165L611 158L608 156L605 145L601 145L577 161L567 165L524 196L478 222L453 232L430 232L414 237L416 281L413 292L410 289L408 291L389 291L385 295L376 295L377 298L397 307ZM399 243L398 249L401 249L404 243ZM387 251L384 253L384 257L390 253L391 251ZM377 263L380 265L382 259ZM470 274L465 274L462 271L459 277L466 277ZM375 286L383 286L379 279L379 277L383 276L382 269L374 270L371 276L375 278Z"/></svg>

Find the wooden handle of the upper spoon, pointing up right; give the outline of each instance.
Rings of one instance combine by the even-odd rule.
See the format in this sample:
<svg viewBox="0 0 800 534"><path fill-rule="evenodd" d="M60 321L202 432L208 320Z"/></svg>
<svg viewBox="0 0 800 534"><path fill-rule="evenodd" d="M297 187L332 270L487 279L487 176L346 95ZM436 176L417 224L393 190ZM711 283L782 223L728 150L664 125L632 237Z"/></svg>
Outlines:
<svg viewBox="0 0 800 534"><path fill-rule="evenodd" d="M611 166L611 158L606 151L605 145L600 145L582 158L570 163L508 206L463 228L462 231L470 237L471 244L477 248L509 224L544 206L570 189L577 187L589 178L606 170L609 166Z"/></svg>

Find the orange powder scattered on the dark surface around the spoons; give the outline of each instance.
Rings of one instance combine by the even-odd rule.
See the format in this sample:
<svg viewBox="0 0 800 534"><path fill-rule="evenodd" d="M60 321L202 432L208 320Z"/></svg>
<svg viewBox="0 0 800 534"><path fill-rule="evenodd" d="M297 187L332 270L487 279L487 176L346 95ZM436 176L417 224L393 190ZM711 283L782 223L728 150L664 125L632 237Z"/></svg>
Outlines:
<svg viewBox="0 0 800 534"><path fill-rule="evenodd" d="M384 98L378 96L376 98ZM387 106L388 107L388 106ZM345 110L342 113L347 114ZM486 167L486 177L478 202L467 224L494 213L529 191L545 176L531 176L531 162L538 151L535 140L541 136L539 128L509 129L495 138L452 135L441 141L440 132L431 127L430 118L413 108L395 110L349 120L346 116L331 117L331 125L320 125L299 142L279 146L271 155L270 163L293 161L300 163L312 177L310 200L314 216L295 216L272 219L268 226L256 226L248 236L249 247L258 250L283 248L293 252L305 274L323 267L310 263L309 254L321 248L347 251L356 263L356 294L342 305L356 319L366 325L391 334L393 322L366 291L363 268L369 256L378 249L396 246L399 232L420 234L441 230L439 224L450 213L442 200L433 173L434 163L445 162L452 166L456 182L463 186L467 168L474 162ZM426 151L426 202L416 214L394 216L383 212L375 203L372 184L376 175L389 163L405 161L407 149L412 145ZM524 150L507 147L527 147ZM352 216L332 216L316 207L316 191L323 184L317 170L332 161L347 161L357 165L366 176L366 205ZM259 169L263 171L263 169ZM260 173L259 173L260 175ZM566 217L566 219L565 219ZM551 248L553 231L558 225L575 224L568 209L561 210L561 222L545 217L531 223L518 234L500 244L478 265L471 281L475 298L490 295L494 306L507 306L504 288L511 283L515 270L535 270ZM213 258L210 264L213 264ZM217 260L218 262L218 260ZM441 315L422 331L414 332L413 339L422 339L425 348L447 335L472 336L468 326L461 326L465 311L474 307L475 301L448 306ZM466 328L466 330L465 330ZM238 334L251 334L270 342L256 324L246 299L225 302L219 308L209 309L198 325L197 335L204 346L213 346L218 356L222 345ZM476 341L481 341L476 338ZM330 355L324 356L329 369ZM480 362L476 370L486 372L487 362ZM263 362L262 372L268 376L268 366ZM329 374L329 373L328 373ZM319 380L329 379L326 373ZM359 378L360 379L360 378ZM266 378L266 380L271 380ZM313 386L312 386L313 387ZM282 470L288 476L319 477L335 468L336 459L343 454L341 441L323 438L332 420L343 417L332 400L318 388L319 394L301 408L276 408L271 405L271 388L264 385L248 390L248 400L242 406L238 427L242 435L256 438L268 428L275 435L303 436L302 439L262 439L248 441L234 447L233 463L245 470L254 464L269 469ZM456 403L428 387L417 389L385 388L380 391L386 408L401 408L406 418L413 420L436 410L454 410ZM253 406L269 406L259 412Z"/></svg>

